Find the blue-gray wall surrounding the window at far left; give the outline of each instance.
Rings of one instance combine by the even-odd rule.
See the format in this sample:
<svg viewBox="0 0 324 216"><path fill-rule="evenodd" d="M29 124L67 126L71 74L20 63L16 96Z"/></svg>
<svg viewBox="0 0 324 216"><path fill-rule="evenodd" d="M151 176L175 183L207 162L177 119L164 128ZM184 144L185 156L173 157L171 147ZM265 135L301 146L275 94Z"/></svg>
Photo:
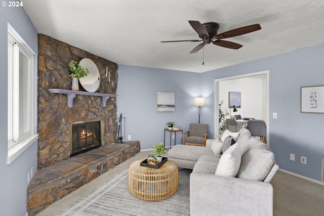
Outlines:
<svg viewBox="0 0 324 216"><path fill-rule="evenodd" d="M32 144L11 164L7 165L8 23L27 42L35 54L37 54L38 50L37 32L23 8L0 7L0 214L25 215L27 212L27 174L31 167L33 167L34 172L37 170L37 142Z"/></svg>

